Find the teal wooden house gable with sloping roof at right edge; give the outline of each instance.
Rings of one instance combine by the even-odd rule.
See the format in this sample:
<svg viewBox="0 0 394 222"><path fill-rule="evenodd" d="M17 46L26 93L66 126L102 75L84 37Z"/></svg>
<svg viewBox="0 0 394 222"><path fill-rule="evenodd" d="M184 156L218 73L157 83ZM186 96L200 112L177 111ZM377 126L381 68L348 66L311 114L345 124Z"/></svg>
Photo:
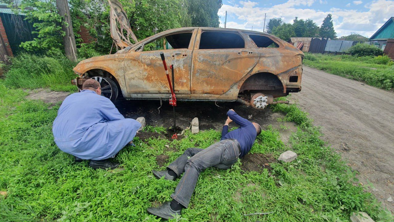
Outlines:
<svg viewBox="0 0 394 222"><path fill-rule="evenodd" d="M374 45L384 51L388 39L394 39L394 17L388 19L388 21L383 24L383 26L380 27L369 40L371 45Z"/></svg>

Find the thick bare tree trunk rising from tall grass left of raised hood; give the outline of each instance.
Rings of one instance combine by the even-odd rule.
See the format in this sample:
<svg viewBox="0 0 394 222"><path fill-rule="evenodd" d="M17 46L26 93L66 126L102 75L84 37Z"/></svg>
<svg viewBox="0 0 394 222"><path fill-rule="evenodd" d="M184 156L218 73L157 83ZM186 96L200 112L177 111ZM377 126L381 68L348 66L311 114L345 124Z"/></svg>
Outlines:
<svg viewBox="0 0 394 222"><path fill-rule="evenodd" d="M64 51L67 58L76 61L75 36L72 30L70 8L67 0L56 0L56 8L58 9L59 15L63 17L63 24L61 24L61 30L65 32L65 36L63 36Z"/></svg>

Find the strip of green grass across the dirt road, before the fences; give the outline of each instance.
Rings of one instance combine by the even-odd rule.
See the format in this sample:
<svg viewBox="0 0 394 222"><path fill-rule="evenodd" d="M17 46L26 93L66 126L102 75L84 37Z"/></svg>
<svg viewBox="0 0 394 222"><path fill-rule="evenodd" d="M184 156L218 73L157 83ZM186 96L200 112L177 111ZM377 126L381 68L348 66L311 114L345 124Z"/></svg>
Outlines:
<svg viewBox="0 0 394 222"><path fill-rule="evenodd" d="M387 56L349 56L305 53L303 64L368 85L390 90L394 88L393 62Z"/></svg>

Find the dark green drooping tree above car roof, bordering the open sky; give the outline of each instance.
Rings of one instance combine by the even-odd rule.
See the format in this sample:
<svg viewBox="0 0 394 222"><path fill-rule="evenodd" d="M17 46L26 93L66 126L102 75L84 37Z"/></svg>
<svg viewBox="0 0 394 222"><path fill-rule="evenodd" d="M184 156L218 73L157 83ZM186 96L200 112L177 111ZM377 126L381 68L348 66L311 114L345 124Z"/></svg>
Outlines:
<svg viewBox="0 0 394 222"><path fill-rule="evenodd" d="M222 0L188 0L188 4L191 26L219 27L217 11L223 5Z"/></svg>

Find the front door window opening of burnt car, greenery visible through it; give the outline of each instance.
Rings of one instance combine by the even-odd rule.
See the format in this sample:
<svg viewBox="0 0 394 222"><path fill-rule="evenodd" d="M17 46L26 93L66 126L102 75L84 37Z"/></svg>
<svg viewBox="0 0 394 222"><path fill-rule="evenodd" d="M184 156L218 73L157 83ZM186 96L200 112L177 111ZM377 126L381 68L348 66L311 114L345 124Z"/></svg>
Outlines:
<svg viewBox="0 0 394 222"><path fill-rule="evenodd" d="M143 51L165 49L187 49L191 40L191 32L162 36L144 45ZM138 49L137 49L138 51Z"/></svg>

